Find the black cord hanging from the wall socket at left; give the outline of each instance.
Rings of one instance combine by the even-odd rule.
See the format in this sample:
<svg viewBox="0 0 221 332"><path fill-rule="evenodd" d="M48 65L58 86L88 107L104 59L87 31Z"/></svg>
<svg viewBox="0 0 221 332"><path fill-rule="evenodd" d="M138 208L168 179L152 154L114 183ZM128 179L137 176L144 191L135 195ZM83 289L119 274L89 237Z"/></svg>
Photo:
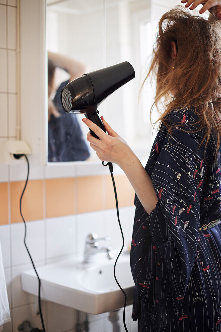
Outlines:
<svg viewBox="0 0 221 332"><path fill-rule="evenodd" d="M40 314L40 318L41 318L41 325L42 325L42 329L43 329L43 332L46 332L45 331L45 327L44 327L44 320L43 320L43 315L42 315L42 311L41 311L41 297L40 297L40 290L41 290L41 281L40 281L40 278L38 276L38 273L37 273L37 270L34 266L34 262L31 258L31 254L28 250L28 247L27 247L27 244L26 244L26 233L27 233L27 228L26 228L26 221L22 215L22 197L24 195L24 192L25 192L25 189L26 189L26 186L27 186L27 183L28 183L28 176L29 176L29 162L28 162L28 157L26 154L13 154L13 156L16 158L16 159L20 159L21 157L25 157L26 158L26 161L27 161L27 164L28 164L28 174L27 174L27 179L26 179L26 183L25 183L25 187L23 189L23 192L22 192L22 195L20 197L20 214L21 214L21 217L22 217L22 220L24 221L24 224L25 224L25 236L24 236L24 244L25 244L25 247L28 251L28 255L30 257L30 260L31 260L31 263L32 263L32 266L34 268L34 271L36 273L36 276L37 276L37 279L38 279L38 310L39 310L39 314ZM38 330L38 329L37 329ZM36 331L37 331L36 330Z"/></svg>

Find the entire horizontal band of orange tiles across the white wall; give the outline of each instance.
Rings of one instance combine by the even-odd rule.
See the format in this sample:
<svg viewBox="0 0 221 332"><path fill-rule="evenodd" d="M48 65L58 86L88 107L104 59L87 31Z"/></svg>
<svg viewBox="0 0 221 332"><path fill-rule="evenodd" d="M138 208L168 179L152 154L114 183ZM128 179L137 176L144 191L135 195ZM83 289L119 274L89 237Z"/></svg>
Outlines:
<svg viewBox="0 0 221 332"><path fill-rule="evenodd" d="M135 191L126 175L114 175L119 207L134 205ZM22 222L20 196L25 181L10 182L11 223ZM44 200L45 186L45 202ZM22 212L26 221L115 208L110 175L29 180L23 196ZM0 183L0 225L9 223L8 182Z"/></svg>

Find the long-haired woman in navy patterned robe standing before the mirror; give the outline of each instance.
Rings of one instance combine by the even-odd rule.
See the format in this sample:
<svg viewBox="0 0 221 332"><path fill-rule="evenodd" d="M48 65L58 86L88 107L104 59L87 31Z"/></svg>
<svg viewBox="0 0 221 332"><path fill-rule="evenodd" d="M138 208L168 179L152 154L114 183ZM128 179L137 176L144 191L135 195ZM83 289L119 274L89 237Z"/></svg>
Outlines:
<svg viewBox="0 0 221 332"><path fill-rule="evenodd" d="M109 135L83 119L99 159L117 163L136 192L132 318L142 332L221 330L220 24L181 6L160 19L147 77L156 73L164 112L145 168L103 117Z"/></svg>

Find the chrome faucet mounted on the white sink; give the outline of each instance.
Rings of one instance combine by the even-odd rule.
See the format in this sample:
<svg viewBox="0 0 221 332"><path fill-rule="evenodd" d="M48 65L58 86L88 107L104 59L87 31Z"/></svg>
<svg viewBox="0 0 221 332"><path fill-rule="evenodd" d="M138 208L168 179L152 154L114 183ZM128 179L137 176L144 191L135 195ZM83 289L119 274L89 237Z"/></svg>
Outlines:
<svg viewBox="0 0 221 332"><path fill-rule="evenodd" d="M110 239L111 239L110 236L98 238L96 233L88 234L86 237L86 243L85 243L85 247L84 247L83 262L89 263L91 261L90 260L91 255L94 255L98 252L105 252L105 251L107 252L107 258L112 259L114 257L114 255L111 251L112 247L102 247L97 242L100 240L109 241Z"/></svg>

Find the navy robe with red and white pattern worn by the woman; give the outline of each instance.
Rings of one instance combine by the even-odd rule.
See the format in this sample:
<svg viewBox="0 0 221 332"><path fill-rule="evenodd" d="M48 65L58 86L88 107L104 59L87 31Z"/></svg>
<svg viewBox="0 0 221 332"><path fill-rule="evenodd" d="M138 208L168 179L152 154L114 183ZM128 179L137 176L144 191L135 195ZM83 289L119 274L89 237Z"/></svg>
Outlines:
<svg viewBox="0 0 221 332"><path fill-rule="evenodd" d="M137 195L131 246L135 282L132 318L139 331L221 331L220 156L214 134L192 125L193 109L178 109L161 124L145 170L158 198L148 214ZM197 127L198 126L198 127ZM189 130L190 133L184 132ZM198 150L198 153L197 153ZM207 165L206 162L209 164ZM215 221L214 221L215 220ZM214 227L203 225L214 221Z"/></svg>

